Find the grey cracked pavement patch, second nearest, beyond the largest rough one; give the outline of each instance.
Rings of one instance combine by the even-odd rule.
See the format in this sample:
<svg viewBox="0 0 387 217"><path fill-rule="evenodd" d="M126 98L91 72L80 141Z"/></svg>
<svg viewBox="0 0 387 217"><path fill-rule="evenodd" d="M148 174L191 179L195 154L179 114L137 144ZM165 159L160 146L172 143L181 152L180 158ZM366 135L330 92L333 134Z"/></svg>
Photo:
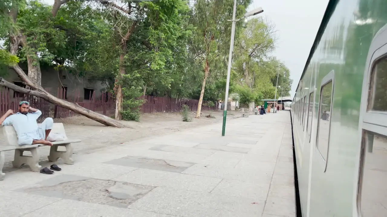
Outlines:
<svg viewBox="0 0 387 217"><path fill-rule="evenodd" d="M130 166L151 170L162 170L168 172L181 173L188 167L195 163L182 162L182 161L170 161L164 159L144 158L140 156L127 156L123 158L114 159L104 162L107 164L114 164L120 166Z"/></svg>

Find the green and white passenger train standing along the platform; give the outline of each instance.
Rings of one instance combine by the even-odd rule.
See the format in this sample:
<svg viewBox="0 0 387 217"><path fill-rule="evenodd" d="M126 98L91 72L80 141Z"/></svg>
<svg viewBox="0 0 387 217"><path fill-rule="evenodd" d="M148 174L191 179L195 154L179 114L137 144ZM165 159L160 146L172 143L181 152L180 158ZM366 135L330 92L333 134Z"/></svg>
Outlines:
<svg viewBox="0 0 387 217"><path fill-rule="evenodd" d="M302 216L387 217L387 0L329 1L291 116Z"/></svg>

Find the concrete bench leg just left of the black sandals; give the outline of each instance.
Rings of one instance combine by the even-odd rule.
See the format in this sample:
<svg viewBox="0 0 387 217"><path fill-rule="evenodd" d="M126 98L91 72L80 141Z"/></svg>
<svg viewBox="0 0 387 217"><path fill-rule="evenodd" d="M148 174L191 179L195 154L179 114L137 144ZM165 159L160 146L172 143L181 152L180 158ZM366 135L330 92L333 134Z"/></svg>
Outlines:
<svg viewBox="0 0 387 217"><path fill-rule="evenodd" d="M24 156L24 151L30 151L32 156ZM23 164L27 164L31 171L40 171L42 166L39 165L39 147L15 149L15 159L12 161L12 166L14 168L21 168Z"/></svg>

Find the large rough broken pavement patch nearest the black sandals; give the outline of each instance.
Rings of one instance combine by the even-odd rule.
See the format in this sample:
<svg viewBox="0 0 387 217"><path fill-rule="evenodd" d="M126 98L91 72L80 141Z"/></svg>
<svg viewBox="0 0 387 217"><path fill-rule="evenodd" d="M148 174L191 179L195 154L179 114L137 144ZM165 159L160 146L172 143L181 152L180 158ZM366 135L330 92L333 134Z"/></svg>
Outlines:
<svg viewBox="0 0 387 217"><path fill-rule="evenodd" d="M78 180L66 181L68 179L65 176L67 175L57 176L55 180L51 180L51 184L56 183L55 185L50 185L50 181L46 180L45 183L39 183L40 186L26 188L23 192L127 208L128 205L155 188L147 185L80 176L78 176L80 177ZM58 178L63 178L63 182L57 183Z"/></svg>

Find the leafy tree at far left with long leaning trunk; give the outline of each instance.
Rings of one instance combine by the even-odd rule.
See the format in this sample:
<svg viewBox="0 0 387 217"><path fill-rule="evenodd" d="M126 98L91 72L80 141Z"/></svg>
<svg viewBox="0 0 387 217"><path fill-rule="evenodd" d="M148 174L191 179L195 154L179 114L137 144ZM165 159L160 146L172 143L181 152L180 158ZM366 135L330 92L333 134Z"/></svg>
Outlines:
<svg viewBox="0 0 387 217"><path fill-rule="evenodd" d="M8 0L5 2L5 6L2 6L3 10L0 14L2 18L0 19L7 22L5 26L7 27L6 35L9 39L9 51L10 54L20 55L27 60L28 76L18 64L10 66L10 68L17 73L28 89L20 88L3 78L0 78L0 85L20 93L41 97L48 102L82 114L102 124L124 127L123 124L109 117L54 97L40 85L40 60L52 57L52 54L48 52L46 42L52 40L60 44L64 40L63 32L53 28L53 19L56 17L59 8L68 1L55 0L52 7L37 0L29 1L27 5L23 0Z"/></svg>

